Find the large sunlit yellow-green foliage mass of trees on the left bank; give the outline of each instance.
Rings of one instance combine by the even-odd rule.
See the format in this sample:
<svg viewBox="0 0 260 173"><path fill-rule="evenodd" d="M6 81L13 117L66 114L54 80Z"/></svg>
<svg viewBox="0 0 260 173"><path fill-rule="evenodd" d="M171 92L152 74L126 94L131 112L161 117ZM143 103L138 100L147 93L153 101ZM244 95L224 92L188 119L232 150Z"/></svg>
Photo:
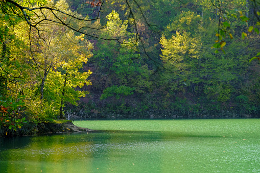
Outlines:
<svg viewBox="0 0 260 173"><path fill-rule="evenodd" d="M64 2L58 2L53 7L66 11L67 6L62 3ZM6 9L4 8L4 10ZM37 12L34 14L39 17L40 14L49 15L50 13L48 10L42 9L40 14ZM4 19L12 21L11 15L14 15L12 11L8 13L8 19ZM33 17L31 15L31 19ZM16 20L14 19L14 21ZM3 22L4 27L12 27L4 25L5 23ZM2 40L1 79L8 80L7 85L3 87L11 91L5 94L12 93L14 98L18 93L26 95L27 104L34 105L32 101L39 105L48 103L52 107L52 114L55 114L56 110L53 108L56 107L60 110L60 117L64 118L62 111L64 103L76 104L78 97L85 96L87 93L86 91L75 91L74 88L91 84L87 80L91 72L79 72L83 63L86 63L87 59L92 56L91 43L83 38L84 35L75 36L74 31L66 29L62 24L56 22L39 22L37 28L28 27L25 22L20 20L12 24L14 28L12 32L7 30L5 34L6 36L13 34L13 36L3 37ZM50 81L54 79L59 82L50 85ZM53 92L52 89L55 87L59 88L60 92L58 90ZM40 102L35 97L38 93L40 93ZM51 93L58 97L54 97L52 100ZM30 106L27 105L27 108L30 110Z"/></svg>

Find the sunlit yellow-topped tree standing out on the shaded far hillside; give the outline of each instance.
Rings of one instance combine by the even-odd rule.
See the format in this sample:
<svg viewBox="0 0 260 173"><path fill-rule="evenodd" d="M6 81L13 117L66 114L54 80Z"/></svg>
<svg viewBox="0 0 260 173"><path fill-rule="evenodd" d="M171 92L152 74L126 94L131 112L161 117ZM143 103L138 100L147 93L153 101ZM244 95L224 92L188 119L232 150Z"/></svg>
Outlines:
<svg viewBox="0 0 260 173"><path fill-rule="evenodd" d="M190 34L176 31L176 36L167 40L163 35L160 44L161 59L167 69L164 78L171 86L171 90L178 90L181 86L198 83L200 38L191 38Z"/></svg>

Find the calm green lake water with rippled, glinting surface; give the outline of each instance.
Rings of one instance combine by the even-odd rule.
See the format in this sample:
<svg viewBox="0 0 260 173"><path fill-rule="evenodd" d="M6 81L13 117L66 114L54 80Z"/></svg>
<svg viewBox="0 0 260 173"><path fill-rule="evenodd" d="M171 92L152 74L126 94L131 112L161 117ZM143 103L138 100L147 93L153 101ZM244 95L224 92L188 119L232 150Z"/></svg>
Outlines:
<svg viewBox="0 0 260 173"><path fill-rule="evenodd" d="M84 120L0 138L0 172L260 172L260 119Z"/></svg>

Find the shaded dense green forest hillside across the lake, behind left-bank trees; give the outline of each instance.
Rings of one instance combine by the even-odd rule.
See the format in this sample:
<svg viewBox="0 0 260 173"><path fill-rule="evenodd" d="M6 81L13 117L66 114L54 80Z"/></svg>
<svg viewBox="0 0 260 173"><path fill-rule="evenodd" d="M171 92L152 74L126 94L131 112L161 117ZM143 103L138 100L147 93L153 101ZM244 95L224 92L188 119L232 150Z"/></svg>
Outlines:
<svg viewBox="0 0 260 173"><path fill-rule="evenodd" d="M66 108L88 117L258 116L259 62L248 61L260 44L259 34L247 31L248 25L258 21L250 2L221 4L227 12L240 15L241 10L251 19L248 23L240 18L228 19L231 26L226 33L225 54L211 48L218 40L219 29L219 10L211 1L138 3L141 11L134 5L132 8L140 35L138 43L92 41L93 57L84 66L93 72L88 78L92 85L83 87L89 94L77 107ZM76 1L68 4L77 9ZM107 26L104 35L123 41L134 38L135 26L126 7L124 1L115 1L103 9L100 22ZM84 15L94 17L97 9L89 10ZM107 21L111 12L116 19ZM115 22L115 28L109 22ZM241 37L242 32L248 34L247 38Z"/></svg>

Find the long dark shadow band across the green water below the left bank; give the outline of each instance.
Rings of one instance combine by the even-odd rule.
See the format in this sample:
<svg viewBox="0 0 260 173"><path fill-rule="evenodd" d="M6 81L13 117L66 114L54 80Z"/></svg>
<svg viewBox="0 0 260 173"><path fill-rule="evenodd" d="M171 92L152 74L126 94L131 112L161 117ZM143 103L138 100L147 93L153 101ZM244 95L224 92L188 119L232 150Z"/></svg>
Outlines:
<svg viewBox="0 0 260 173"><path fill-rule="evenodd" d="M186 132L161 131L127 131L127 130L94 130L92 132L74 132L62 134L44 134L38 136L4 137L0 138L0 152L10 149L20 149L37 142L38 145L73 144L84 141L105 141L117 138L126 141L159 141L173 138L218 138L221 135L204 135Z"/></svg>

